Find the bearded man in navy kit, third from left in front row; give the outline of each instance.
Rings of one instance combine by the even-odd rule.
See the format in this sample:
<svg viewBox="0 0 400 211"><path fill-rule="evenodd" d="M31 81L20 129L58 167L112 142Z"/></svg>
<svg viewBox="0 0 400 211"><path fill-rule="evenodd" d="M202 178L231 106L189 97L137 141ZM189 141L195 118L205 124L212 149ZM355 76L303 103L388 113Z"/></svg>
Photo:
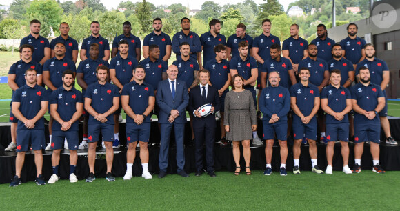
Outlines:
<svg viewBox="0 0 400 211"><path fill-rule="evenodd" d="M96 146L101 132L104 145L106 145L107 174L106 180L115 181L112 176L112 161L114 159L114 150L112 141L114 140L114 118L113 114L119 106L119 90L114 84L108 83L108 68L98 66L96 68L96 77L98 81L88 86L85 94L85 109L90 114L88 123L88 163L90 174L86 182L92 182L94 179L94 162L96 161Z"/></svg>

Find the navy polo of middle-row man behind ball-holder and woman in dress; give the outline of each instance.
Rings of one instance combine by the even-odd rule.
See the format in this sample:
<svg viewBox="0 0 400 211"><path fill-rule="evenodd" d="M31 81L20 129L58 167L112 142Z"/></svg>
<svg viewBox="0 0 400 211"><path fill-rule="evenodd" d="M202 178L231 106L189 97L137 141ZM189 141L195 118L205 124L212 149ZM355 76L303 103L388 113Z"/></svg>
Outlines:
<svg viewBox="0 0 400 211"><path fill-rule="evenodd" d="M210 71L210 82L214 88L220 90L225 86L226 81L228 81L228 74L230 74L228 60L221 60L221 62L218 63L217 59L211 59L206 62L204 69ZM228 91L229 89L225 90L225 92Z"/></svg>

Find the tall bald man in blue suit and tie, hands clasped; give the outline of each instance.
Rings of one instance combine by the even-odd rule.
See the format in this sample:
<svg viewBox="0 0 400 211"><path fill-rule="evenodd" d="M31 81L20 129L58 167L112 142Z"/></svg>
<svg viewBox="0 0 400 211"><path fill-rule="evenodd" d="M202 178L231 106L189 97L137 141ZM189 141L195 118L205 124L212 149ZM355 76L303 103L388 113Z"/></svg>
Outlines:
<svg viewBox="0 0 400 211"><path fill-rule="evenodd" d="M183 170L185 166L183 134L186 123L185 109L189 103L188 88L186 88L185 81L177 80L177 66L168 66L167 74L168 79L159 82L156 96L156 101L160 108L159 123L161 124L162 134L159 156L159 178L166 177L167 174L172 126L174 126L175 141L177 144L177 172L182 177L189 177L185 170Z"/></svg>

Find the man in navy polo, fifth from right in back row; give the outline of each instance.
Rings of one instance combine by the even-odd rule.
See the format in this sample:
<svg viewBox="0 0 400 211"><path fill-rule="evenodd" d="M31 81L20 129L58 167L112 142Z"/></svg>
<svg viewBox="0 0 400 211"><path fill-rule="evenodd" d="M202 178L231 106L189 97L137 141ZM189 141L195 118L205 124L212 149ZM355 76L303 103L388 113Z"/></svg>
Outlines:
<svg viewBox="0 0 400 211"><path fill-rule="evenodd" d="M253 38L246 34L246 25L239 23L236 26L235 34L228 37L226 41L226 57L230 61L233 57L239 57L239 43L241 41L246 41L248 43L248 48L251 49L253 45ZM252 51L250 50L250 56Z"/></svg>

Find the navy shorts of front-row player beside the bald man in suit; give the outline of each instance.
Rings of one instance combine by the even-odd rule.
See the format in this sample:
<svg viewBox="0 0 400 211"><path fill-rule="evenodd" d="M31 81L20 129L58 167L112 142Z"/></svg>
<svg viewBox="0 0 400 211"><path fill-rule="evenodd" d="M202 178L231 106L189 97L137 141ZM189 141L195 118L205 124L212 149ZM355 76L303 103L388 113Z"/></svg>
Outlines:
<svg viewBox="0 0 400 211"><path fill-rule="evenodd" d="M126 123L126 142L148 142L150 139L150 125L150 122L143 122L141 125Z"/></svg>

